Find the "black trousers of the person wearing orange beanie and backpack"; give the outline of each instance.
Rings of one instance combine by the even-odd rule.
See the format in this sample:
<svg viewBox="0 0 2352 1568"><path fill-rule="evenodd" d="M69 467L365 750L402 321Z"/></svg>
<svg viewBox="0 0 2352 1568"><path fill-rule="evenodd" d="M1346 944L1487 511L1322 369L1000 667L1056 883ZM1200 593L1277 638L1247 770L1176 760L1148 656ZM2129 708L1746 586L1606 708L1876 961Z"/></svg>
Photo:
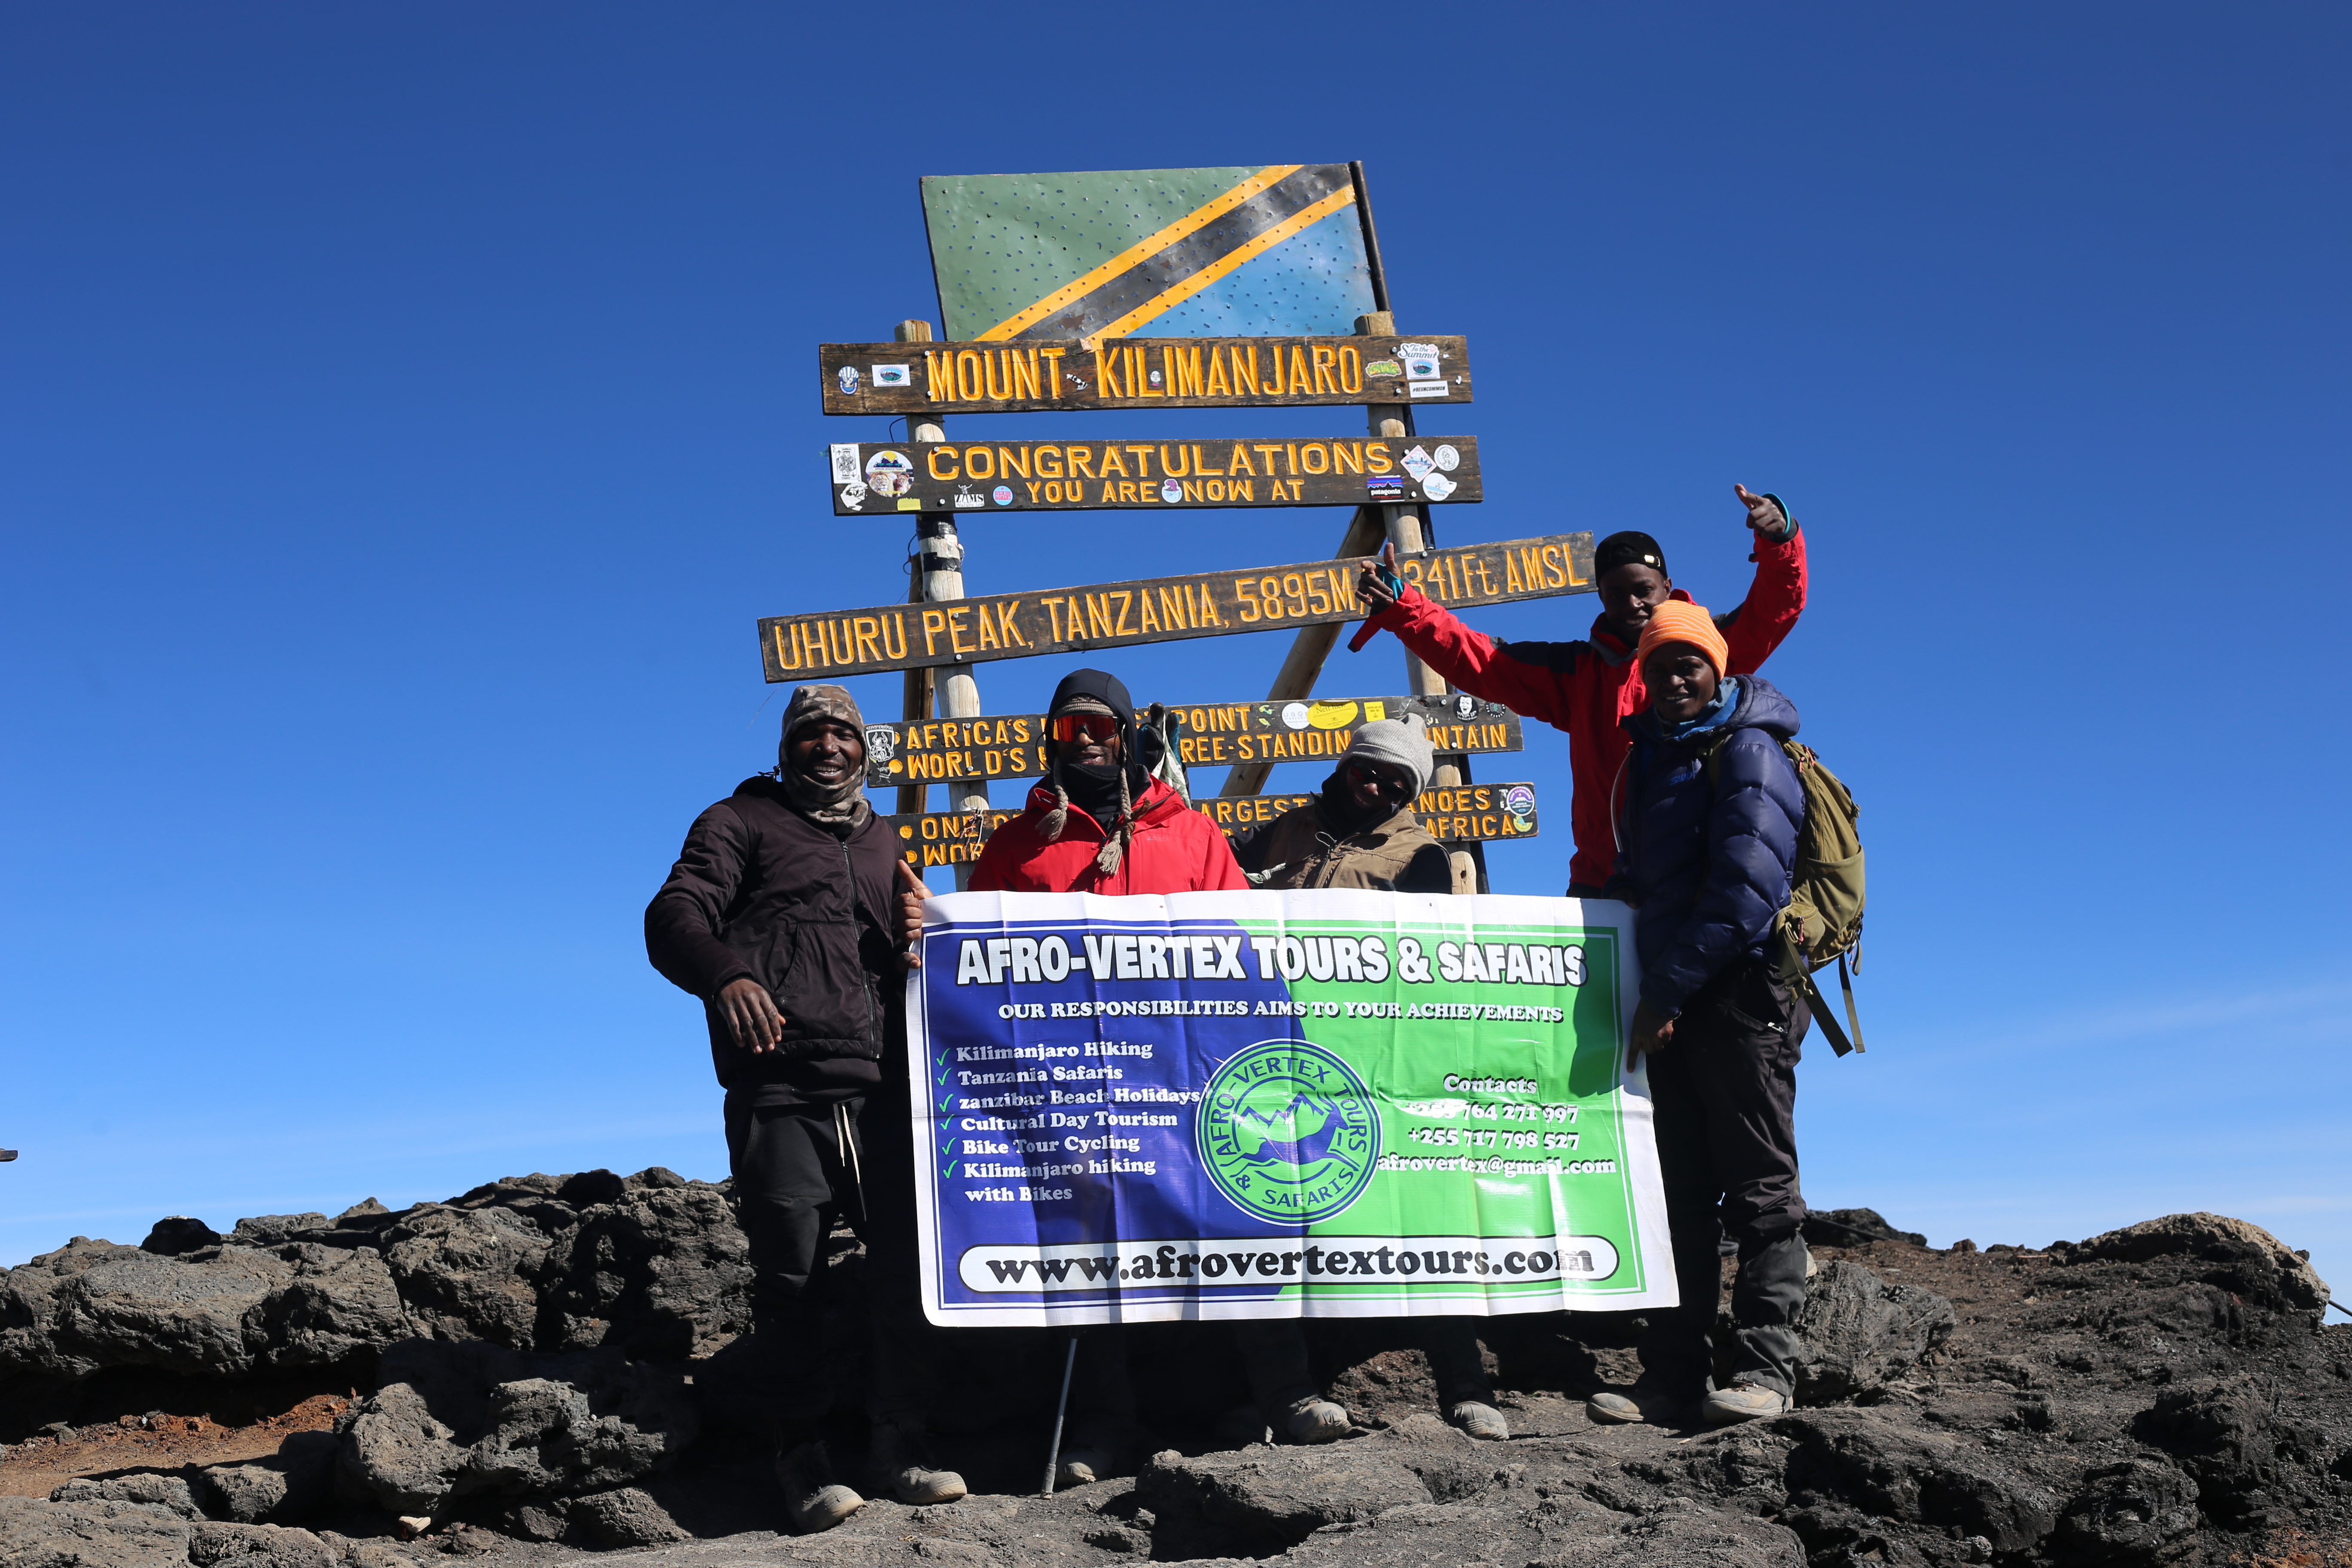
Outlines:
<svg viewBox="0 0 2352 1568"><path fill-rule="evenodd" d="M1738 1244L1731 1380L1795 1394L1804 1305L1804 1194L1797 1187L1797 1058L1809 1016L1766 959L1703 985L1649 1058L1682 1305L1649 1314L1642 1378L1677 1396L1710 1387L1722 1298L1717 1239Z"/></svg>

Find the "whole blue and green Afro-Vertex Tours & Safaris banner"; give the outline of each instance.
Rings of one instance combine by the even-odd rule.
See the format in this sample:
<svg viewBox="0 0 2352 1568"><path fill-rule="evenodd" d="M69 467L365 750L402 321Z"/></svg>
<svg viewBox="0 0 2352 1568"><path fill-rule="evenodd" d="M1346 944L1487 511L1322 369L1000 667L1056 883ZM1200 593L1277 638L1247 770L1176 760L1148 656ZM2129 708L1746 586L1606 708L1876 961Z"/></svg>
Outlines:
<svg viewBox="0 0 2352 1568"><path fill-rule="evenodd" d="M1677 1300L1625 905L950 893L927 922L934 1324Z"/></svg>

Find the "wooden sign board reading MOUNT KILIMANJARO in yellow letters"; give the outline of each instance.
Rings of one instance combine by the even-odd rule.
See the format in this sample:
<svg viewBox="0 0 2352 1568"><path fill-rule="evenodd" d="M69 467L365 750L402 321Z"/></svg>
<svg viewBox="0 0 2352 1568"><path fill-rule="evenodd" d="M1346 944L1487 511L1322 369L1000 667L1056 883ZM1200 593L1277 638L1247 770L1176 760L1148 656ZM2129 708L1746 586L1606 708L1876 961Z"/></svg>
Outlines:
<svg viewBox="0 0 2352 1568"><path fill-rule="evenodd" d="M1470 346L1418 339L818 343L826 414L1470 402Z"/></svg>

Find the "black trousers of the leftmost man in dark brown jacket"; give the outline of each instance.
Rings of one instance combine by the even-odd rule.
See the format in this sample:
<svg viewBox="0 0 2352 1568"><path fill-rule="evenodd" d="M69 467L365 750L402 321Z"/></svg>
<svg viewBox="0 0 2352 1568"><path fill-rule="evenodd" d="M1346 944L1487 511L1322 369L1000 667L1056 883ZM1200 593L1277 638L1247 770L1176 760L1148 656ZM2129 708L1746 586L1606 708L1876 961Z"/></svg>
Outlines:
<svg viewBox="0 0 2352 1568"><path fill-rule="evenodd" d="M727 1095L727 1164L753 1267L753 1342L783 1443L816 1436L833 1408L833 1356L814 1284L837 1218L866 1241L873 1326L866 1413L920 1427L929 1408L910 1133L906 1117L877 1114L861 1138L861 1100L753 1107Z"/></svg>

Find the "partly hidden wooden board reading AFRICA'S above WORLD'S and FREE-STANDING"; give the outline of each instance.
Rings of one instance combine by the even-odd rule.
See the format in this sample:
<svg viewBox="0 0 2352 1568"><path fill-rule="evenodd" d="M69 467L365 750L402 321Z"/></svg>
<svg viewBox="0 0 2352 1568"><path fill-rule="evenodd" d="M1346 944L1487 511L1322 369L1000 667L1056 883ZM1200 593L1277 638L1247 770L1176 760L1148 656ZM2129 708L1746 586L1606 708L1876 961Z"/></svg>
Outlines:
<svg viewBox="0 0 2352 1568"><path fill-rule="evenodd" d="M1421 715L1430 726L1430 745L1439 752L1515 752L1524 745L1519 715L1468 693L1171 703L1171 708L1183 715L1183 738L1176 750L1185 766L1334 759L1364 724L1406 715ZM967 778L1037 778L1044 769L1042 712L866 726L866 783L875 790Z"/></svg>

